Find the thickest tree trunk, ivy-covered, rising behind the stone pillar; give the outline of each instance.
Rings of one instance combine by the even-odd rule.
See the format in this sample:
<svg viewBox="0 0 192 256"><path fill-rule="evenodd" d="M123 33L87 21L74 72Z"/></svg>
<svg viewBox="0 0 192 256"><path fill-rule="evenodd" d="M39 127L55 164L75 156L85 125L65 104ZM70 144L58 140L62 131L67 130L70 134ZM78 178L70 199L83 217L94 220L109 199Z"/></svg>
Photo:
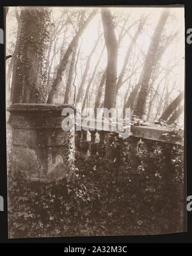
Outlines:
<svg viewBox="0 0 192 256"><path fill-rule="evenodd" d="M49 8L21 8L16 82L17 88L20 88L20 95L15 96L17 102L26 102L26 100L20 100L24 97L22 93L25 86L29 87L33 102L45 102L45 57L50 23Z"/></svg>

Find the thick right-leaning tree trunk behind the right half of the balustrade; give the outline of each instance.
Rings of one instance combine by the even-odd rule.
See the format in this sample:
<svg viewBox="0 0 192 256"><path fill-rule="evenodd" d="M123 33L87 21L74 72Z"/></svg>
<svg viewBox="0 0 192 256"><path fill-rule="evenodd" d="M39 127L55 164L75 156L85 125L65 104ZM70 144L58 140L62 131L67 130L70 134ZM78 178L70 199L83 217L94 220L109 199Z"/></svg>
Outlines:
<svg viewBox="0 0 192 256"><path fill-rule="evenodd" d="M154 69L156 69L157 63L163 54L164 46L160 46L159 43L161 42L161 34L163 32L168 16L169 12L165 11L159 18L154 36L150 42L145 64L143 66L143 71L138 82L138 86L141 86L141 89L138 94L136 107L134 108L134 114L140 118L142 118L143 114L145 113L145 104L147 101L150 78L152 77L152 73L154 72Z"/></svg>

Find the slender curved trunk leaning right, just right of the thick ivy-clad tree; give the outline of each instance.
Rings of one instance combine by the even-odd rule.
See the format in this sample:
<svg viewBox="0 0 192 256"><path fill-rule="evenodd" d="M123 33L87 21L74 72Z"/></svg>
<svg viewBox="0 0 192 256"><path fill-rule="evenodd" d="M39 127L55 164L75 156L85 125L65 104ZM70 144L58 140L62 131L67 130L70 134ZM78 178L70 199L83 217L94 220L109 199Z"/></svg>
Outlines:
<svg viewBox="0 0 192 256"><path fill-rule="evenodd" d="M63 59L60 62L60 66L58 68L56 78L54 78L54 81L52 83L52 88L51 88L51 91L49 92L47 103L52 103L53 97L58 89L58 84L60 84L60 82L61 82L62 73L63 73L63 71L65 71L65 68L68 63L68 59L73 51L73 48L76 45L76 42L79 40L79 37L81 37L82 33L84 32L86 26L88 26L88 24L93 19L93 17L95 16L96 13L97 13L97 10L94 10L89 15L88 19L86 19L86 21L84 21L83 25L81 26L81 28L79 28L78 32L76 33L76 35L70 42L70 45L68 46L67 51L65 52L65 55L63 56Z"/></svg>

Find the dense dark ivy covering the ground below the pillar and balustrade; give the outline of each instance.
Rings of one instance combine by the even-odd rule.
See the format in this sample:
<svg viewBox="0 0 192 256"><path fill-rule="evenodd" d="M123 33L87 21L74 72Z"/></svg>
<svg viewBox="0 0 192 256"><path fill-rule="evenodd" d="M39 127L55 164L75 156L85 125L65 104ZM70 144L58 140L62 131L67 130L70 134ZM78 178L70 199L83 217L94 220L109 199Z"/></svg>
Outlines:
<svg viewBox="0 0 192 256"><path fill-rule="evenodd" d="M58 183L10 178L10 237L182 232L182 147L113 139Z"/></svg>

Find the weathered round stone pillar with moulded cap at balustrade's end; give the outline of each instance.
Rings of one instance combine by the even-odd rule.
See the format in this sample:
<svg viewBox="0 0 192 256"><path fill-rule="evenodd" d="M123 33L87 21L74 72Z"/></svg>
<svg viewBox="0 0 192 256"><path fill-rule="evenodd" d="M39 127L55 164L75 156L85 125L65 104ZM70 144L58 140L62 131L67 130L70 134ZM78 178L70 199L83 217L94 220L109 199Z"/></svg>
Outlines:
<svg viewBox="0 0 192 256"><path fill-rule="evenodd" d="M74 167L74 130L63 131L63 108L72 105L13 104L12 175L31 181L57 181Z"/></svg>

